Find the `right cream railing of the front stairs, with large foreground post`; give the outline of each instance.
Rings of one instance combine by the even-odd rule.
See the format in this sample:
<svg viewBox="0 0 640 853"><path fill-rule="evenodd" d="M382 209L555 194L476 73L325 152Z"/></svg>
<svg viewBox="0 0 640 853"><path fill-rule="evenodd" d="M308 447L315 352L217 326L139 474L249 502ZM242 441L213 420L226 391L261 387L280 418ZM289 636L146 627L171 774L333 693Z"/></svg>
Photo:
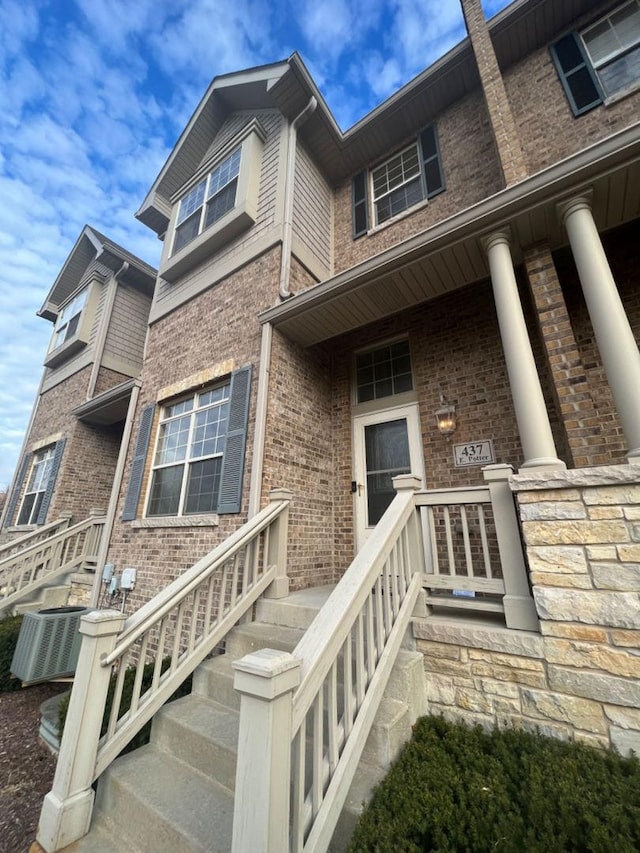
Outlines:
<svg viewBox="0 0 640 853"><path fill-rule="evenodd" d="M422 590L419 480L394 484L391 506L293 654L266 649L234 664L234 853L320 851L331 840Z"/></svg>

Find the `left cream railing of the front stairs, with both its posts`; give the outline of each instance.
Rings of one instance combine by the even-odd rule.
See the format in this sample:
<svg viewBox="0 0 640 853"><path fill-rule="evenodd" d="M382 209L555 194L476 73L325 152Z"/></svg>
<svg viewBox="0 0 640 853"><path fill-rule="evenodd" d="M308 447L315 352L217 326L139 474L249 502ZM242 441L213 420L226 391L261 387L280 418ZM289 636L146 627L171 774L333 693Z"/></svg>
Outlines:
<svg viewBox="0 0 640 853"><path fill-rule="evenodd" d="M286 542L291 493L273 490L258 515L147 602L126 622L112 610L81 620L83 643L52 790L38 841L47 853L85 835L94 780L194 669L221 643L256 599L288 592ZM151 662L150 678L145 664ZM125 675L131 703L120 708ZM117 673L103 730L107 691Z"/></svg>

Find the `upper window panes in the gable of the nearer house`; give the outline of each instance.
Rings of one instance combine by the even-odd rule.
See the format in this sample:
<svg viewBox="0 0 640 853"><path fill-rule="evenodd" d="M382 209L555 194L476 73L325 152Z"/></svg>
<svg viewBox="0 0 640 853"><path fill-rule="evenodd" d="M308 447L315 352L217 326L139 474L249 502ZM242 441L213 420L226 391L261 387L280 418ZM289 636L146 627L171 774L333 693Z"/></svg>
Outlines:
<svg viewBox="0 0 640 853"><path fill-rule="evenodd" d="M181 199L174 254L234 208L241 151L236 148Z"/></svg>

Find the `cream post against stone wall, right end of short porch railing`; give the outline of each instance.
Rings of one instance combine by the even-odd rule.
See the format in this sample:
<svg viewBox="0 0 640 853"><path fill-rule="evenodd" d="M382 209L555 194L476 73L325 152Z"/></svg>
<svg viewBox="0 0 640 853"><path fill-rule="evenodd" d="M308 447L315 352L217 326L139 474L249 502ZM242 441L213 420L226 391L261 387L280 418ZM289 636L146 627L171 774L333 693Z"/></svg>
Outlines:
<svg viewBox="0 0 640 853"><path fill-rule="evenodd" d="M537 631L538 616L529 589L513 492L509 488L509 477L513 468L511 465L487 465L482 469L482 473L489 485L493 507L505 587L503 602L507 628Z"/></svg>

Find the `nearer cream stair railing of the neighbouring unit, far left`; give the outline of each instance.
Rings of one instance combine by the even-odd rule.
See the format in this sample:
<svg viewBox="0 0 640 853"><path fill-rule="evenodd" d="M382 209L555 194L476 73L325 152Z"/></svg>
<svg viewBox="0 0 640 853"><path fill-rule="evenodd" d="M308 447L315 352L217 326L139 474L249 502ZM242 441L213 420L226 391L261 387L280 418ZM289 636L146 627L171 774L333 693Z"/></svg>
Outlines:
<svg viewBox="0 0 640 853"><path fill-rule="evenodd" d="M56 578L95 568L104 523L103 517L90 516L0 561L0 612Z"/></svg>

